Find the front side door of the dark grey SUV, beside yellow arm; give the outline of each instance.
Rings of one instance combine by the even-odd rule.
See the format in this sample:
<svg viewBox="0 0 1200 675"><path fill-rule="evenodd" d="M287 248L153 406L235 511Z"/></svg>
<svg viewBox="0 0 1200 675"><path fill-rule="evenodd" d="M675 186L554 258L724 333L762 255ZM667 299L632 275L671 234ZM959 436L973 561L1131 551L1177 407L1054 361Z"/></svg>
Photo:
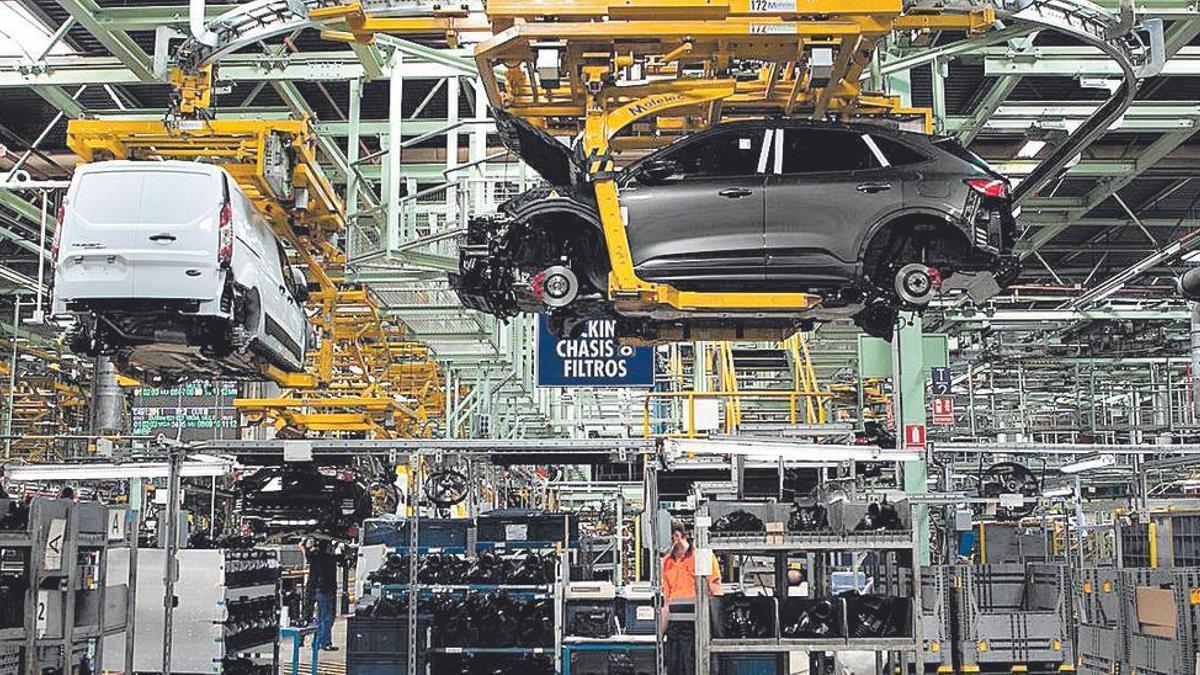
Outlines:
<svg viewBox="0 0 1200 675"><path fill-rule="evenodd" d="M638 276L684 288L763 280L764 133L700 135L631 167L620 203ZM674 173L649 178L644 169L662 161Z"/></svg>

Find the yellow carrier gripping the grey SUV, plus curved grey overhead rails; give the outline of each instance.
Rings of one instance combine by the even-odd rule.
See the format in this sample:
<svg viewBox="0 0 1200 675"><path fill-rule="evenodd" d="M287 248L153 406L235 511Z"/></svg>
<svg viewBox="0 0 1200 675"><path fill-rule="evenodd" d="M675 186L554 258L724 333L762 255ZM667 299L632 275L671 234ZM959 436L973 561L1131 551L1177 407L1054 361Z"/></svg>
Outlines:
<svg viewBox="0 0 1200 675"><path fill-rule="evenodd" d="M1086 0L1003 7L899 0L502 0L486 8L397 0L262 1L241 5L197 31L176 65L208 73L204 68L239 41L301 25L319 25L326 37L353 43L382 34L450 46L478 42L480 82L493 107L557 136L580 135L577 153L587 159L584 180L592 184L611 263L607 295L618 312L713 317L757 310L803 319L820 303L815 295L680 291L640 279L613 180L614 155L659 147L721 120L763 114L882 115L931 132L929 109L864 89L876 46L904 31L980 34L995 29L997 19L1082 40L1110 55L1124 74L1112 100L1031 171L1018 187L1024 198L1057 177L1128 108L1139 77L1162 67L1160 22L1134 31L1129 2L1114 16ZM390 36L386 42L420 48Z"/></svg>

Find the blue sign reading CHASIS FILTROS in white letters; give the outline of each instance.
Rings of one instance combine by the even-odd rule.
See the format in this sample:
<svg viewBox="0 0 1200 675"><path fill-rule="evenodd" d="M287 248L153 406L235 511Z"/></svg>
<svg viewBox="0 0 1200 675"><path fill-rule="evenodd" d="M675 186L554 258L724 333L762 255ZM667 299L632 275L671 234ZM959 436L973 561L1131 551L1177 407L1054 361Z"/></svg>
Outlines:
<svg viewBox="0 0 1200 675"><path fill-rule="evenodd" d="M538 321L539 387L650 387L654 348L617 341L617 322L592 318L578 338L560 340L550 331L550 318Z"/></svg>

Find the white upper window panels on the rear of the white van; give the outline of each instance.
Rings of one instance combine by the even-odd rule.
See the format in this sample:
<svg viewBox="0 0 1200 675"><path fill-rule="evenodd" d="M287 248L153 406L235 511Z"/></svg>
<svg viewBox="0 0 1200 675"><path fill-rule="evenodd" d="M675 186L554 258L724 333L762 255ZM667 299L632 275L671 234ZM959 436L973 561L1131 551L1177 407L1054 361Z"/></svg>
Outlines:
<svg viewBox="0 0 1200 675"><path fill-rule="evenodd" d="M221 205L220 185L186 171L90 173L71 209L92 225L187 225Z"/></svg>

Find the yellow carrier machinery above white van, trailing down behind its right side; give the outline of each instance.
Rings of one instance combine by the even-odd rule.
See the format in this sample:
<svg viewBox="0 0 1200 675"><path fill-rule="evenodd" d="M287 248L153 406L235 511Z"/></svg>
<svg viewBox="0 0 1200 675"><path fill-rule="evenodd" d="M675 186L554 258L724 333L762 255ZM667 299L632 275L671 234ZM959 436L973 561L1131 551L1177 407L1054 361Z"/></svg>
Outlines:
<svg viewBox="0 0 1200 675"><path fill-rule="evenodd" d="M193 92L194 94L194 92ZM185 97L205 98L204 94ZM317 162L307 120L71 120L67 145L84 161L202 160L224 167L318 291L310 321L320 340L304 374L266 368L287 390L238 399L251 423L282 434L342 431L376 437L424 436L445 410L438 366L427 347L404 338L362 288L344 282L344 256L332 239L346 226L341 199ZM280 193L278 153L294 160L293 195Z"/></svg>

